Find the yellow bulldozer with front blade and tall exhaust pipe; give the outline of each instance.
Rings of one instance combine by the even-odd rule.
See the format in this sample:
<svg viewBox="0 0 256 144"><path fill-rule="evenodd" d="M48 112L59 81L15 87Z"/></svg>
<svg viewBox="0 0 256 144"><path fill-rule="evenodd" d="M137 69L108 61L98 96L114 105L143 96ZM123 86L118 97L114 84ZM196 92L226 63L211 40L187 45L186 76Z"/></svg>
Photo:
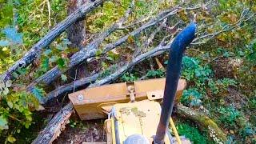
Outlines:
<svg viewBox="0 0 256 144"><path fill-rule="evenodd" d="M172 42L166 78L115 83L69 94L79 118L106 118L107 144L190 143L178 135L171 114L186 88L186 80L180 79L182 56L195 32L196 23L191 22Z"/></svg>

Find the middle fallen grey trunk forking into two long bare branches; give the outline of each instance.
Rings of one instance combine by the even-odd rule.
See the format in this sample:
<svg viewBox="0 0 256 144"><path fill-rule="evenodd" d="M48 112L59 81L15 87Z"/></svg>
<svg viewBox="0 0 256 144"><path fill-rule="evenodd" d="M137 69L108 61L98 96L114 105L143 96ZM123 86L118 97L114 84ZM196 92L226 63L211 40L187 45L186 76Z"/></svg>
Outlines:
<svg viewBox="0 0 256 144"><path fill-rule="evenodd" d="M139 26L137 29L133 30L129 34L126 34L122 38L119 38L116 42L111 42L108 43L106 46L102 48L102 53L101 54L106 54L110 50L113 50L117 46L122 45L124 42L127 41L128 38L135 36L137 34L142 33L143 31L149 29L152 26L157 26L158 23L164 21L166 18L170 18L171 16L178 14L179 10L198 10L202 9L203 7L206 7L210 5L214 1L206 2L205 4L200 4L197 6L192 6L192 7L174 7L169 10L162 11L159 13L157 16L154 18L151 18L148 22L145 24L142 24L142 26ZM58 78L61 74L66 72L66 70L70 70L72 67L77 66L79 63L86 61L87 58L92 58L95 57L97 54L97 50L99 49L99 45L110 35L112 34L115 30L122 30L126 29L129 26L123 26L123 23L126 22L126 19L128 18L129 14L132 12L132 8L134 6L134 1L131 2L130 8L126 10L125 15L120 18L117 22L115 22L112 26L110 26L107 30L100 34L96 34L97 38L95 38L92 42L86 45L85 48L82 50L79 50L77 53L75 53L71 58L70 58L70 63L68 66L66 66L65 70L60 70L58 66L55 66L51 70L48 70L46 74L43 74L41 77L37 78L34 80L34 82L31 82L29 86L26 87L26 90L32 91L33 87L38 85L38 84L43 84L43 85L49 85L51 82L53 82L56 78ZM134 22L138 23L138 22ZM200 38L199 38L200 39ZM144 45L146 46L146 44Z"/></svg>

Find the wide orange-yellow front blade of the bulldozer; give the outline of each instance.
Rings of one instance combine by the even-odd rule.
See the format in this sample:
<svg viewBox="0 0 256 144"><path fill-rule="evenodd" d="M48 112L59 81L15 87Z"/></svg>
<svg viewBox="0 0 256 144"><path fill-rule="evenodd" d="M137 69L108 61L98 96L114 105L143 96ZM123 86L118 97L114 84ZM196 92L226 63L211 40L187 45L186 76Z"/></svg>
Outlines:
<svg viewBox="0 0 256 144"><path fill-rule="evenodd" d="M136 101L152 98L152 94L158 94L162 98L165 89L166 78L155 78L136 82L122 82L105 86L98 86L79 90L69 94L70 101L82 120L106 118L108 109L116 103L130 102L130 91L127 86L134 85ZM182 90L186 87L186 80L179 79L176 93L176 102L182 97ZM151 94L151 95L150 95ZM157 98L158 99L158 98ZM154 100L157 100L154 99Z"/></svg>

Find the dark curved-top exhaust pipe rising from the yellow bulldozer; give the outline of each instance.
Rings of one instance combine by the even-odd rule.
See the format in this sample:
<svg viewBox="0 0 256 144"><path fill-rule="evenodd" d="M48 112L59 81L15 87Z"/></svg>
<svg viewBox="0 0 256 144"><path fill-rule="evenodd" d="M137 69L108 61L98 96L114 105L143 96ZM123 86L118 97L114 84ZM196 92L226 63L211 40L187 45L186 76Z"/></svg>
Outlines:
<svg viewBox="0 0 256 144"><path fill-rule="evenodd" d="M154 137L154 144L163 144L167 128L170 122L170 115L174 106L174 98L178 86L178 79L182 70L182 56L186 46L195 38L196 24L191 22L174 39L170 46L169 60L166 72L166 87L162 102L161 118L158 130Z"/></svg>

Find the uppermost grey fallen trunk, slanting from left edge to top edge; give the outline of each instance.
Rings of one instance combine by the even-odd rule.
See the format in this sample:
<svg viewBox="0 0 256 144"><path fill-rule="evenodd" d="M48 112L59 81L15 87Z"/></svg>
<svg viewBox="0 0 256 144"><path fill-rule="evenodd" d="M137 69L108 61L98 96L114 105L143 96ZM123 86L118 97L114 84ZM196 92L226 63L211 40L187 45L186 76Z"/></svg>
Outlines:
<svg viewBox="0 0 256 144"><path fill-rule="evenodd" d="M78 21L80 18L83 18L91 10L94 10L97 6L101 5L103 0L96 0L94 2L86 2L82 6L78 7L72 14L66 17L65 20L58 23L57 26L54 26L48 34L46 34L39 42L37 42L26 54L14 63L13 66L10 66L6 72L4 72L0 77L4 82L12 78L12 74L17 71L19 68L24 68L29 66L38 56L40 56L42 48L50 45L59 34L62 34L70 25Z"/></svg>

